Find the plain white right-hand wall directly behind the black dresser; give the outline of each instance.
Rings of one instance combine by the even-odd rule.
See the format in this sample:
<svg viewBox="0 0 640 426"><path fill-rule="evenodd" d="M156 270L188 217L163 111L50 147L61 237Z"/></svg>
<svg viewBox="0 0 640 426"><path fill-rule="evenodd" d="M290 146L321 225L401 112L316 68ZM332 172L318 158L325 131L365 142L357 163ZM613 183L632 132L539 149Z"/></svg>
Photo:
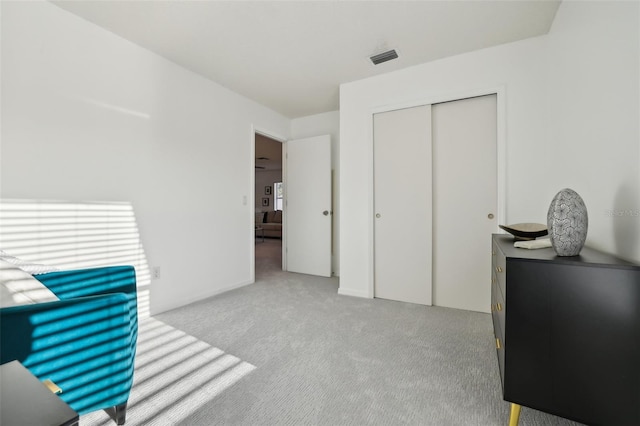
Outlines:
<svg viewBox="0 0 640 426"><path fill-rule="evenodd" d="M546 197L575 189L587 244L640 262L640 3L563 2L548 36Z"/></svg>

